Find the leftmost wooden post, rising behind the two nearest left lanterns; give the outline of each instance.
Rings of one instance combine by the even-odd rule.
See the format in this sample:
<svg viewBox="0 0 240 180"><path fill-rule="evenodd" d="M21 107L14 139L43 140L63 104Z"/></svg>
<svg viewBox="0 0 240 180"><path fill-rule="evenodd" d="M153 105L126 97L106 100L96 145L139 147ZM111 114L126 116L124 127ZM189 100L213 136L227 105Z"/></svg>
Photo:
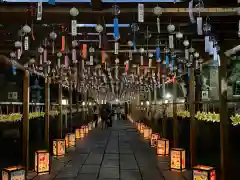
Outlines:
<svg viewBox="0 0 240 180"><path fill-rule="evenodd" d="M29 169L29 72L23 76L23 165Z"/></svg>

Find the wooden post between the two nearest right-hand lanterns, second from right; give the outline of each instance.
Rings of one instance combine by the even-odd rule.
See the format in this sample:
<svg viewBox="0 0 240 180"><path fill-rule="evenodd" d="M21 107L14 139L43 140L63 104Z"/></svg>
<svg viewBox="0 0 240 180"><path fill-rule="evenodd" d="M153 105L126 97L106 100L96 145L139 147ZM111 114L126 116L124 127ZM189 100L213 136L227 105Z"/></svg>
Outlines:
<svg viewBox="0 0 240 180"><path fill-rule="evenodd" d="M193 67L190 67L189 76L190 159L191 167L193 167L196 163L195 76Z"/></svg>

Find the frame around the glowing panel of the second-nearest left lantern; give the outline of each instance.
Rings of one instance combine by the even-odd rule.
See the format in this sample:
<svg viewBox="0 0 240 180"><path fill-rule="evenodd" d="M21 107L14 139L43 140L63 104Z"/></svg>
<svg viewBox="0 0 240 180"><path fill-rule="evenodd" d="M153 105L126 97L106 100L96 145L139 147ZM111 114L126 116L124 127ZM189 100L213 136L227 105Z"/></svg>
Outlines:
<svg viewBox="0 0 240 180"><path fill-rule="evenodd" d="M39 171L39 166L41 164L39 164L39 156L44 154L45 157L48 157L48 168L45 171ZM38 150L35 152L35 172L38 175L43 175L43 174L49 174L50 173L50 169L51 169L51 162L50 162L50 153L47 150Z"/></svg>

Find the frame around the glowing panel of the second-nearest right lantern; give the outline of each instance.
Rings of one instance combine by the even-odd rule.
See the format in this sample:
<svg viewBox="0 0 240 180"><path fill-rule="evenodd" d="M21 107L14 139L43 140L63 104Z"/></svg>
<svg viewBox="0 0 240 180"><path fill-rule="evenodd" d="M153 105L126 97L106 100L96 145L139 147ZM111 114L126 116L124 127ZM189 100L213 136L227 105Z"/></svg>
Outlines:
<svg viewBox="0 0 240 180"><path fill-rule="evenodd" d="M179 153L179 159L173 158L177 153ZM176 159L176 160L174 160ZM179 163L179 167L173 167L173 161L176 161L175 163ZM183 172L186 170L186 151L183 148L172 148L170 151L170 170L171 171L177 171L177 172Z"/></svg>

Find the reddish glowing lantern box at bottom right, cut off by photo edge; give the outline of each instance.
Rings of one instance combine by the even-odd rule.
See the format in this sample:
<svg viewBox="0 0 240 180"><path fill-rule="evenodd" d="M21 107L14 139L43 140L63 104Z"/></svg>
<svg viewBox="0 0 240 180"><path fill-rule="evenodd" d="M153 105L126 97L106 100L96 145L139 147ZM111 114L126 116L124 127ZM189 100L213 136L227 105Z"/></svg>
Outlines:
<svg viewBox="0 0 240 180"><path fill-rule="evenodd" d="M204 165L194 166L193 180L216 180L216 171L211 166Z"/></svg>

